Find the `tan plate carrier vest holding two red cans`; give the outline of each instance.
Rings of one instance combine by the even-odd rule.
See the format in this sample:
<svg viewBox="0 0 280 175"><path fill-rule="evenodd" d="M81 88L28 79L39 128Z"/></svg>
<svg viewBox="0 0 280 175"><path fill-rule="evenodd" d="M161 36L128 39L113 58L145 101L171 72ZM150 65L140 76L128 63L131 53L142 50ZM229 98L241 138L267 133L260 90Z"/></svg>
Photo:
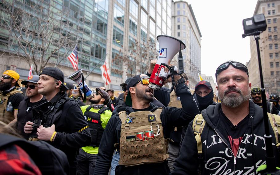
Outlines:
<svg viewBox="0 0 280 175"><path fill-rule="evenodd" d="M168 141L163 137L163 127L160 120L162 108L154 112L139 111L126 114L119 112L122 120L120 137L120 165L132 166L144 163L159 163L166 160ZM126 122L126 121L130 122ZM126 136L137 132L154 131L154 138L142 141L126 141Z"/></svg>

